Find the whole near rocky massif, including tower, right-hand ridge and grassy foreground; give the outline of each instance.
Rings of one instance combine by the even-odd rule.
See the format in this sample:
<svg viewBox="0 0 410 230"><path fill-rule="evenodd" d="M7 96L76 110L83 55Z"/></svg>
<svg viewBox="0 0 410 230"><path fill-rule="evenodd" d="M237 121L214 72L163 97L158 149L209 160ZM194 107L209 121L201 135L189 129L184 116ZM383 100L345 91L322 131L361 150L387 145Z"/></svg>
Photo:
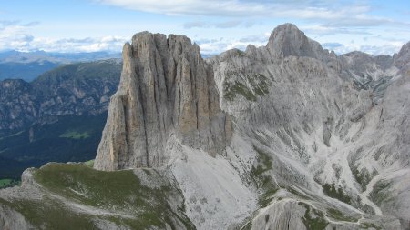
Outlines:
<svg viewBox="0 0 410 230"><path fill-rule="evenodd" d="M203 60L186 36L138 33L94 168L27 169L0 227L406 229L408 47L338 56L285 24Z"/></svg>

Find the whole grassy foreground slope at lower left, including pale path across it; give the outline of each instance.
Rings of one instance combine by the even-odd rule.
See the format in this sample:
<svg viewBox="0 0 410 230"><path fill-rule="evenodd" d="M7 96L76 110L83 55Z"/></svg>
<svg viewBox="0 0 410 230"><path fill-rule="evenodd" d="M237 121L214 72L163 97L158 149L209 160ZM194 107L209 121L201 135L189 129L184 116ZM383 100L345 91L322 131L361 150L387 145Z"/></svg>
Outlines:
<svg viewBox="0 0 410 230"><path fill-rule="evenodd" d="M145 176L161 178L155 170ZM35 227L98 229L97 223L104 222L131 229L195 228L184 215L183 204L169 204L169 197L181 196L178 188L170 183L157 188L143 185L131 170L103 172L87 165L53 163L36 170L34 178L46 189L41 200L0 203L13 207ZM93 211L81 213L78 206Z"/></svg>

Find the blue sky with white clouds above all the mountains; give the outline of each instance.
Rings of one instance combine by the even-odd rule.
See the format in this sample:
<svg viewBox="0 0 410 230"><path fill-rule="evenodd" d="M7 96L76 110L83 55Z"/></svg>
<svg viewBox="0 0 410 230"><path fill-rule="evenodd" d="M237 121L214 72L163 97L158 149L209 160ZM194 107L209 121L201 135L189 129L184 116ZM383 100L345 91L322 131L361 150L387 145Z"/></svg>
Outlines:
<svg viewBox="0 0 410 230"><path fill-rule="evenodd" d="M149 31L187 35L214 55L266 45L284 23L338 55L393 55L410 41L410 0L0 0L0 52L118 53Z"/></svg>

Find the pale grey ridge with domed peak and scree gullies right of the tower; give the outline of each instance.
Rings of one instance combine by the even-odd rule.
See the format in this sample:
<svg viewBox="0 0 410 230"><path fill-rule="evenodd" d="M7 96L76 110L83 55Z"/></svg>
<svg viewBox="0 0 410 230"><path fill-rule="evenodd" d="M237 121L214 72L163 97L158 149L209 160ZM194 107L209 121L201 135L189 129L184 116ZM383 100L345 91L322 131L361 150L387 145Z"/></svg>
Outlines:
<svg viewBox="0 0 410 230"><path fill-rule="evenodd" d="M235 129L272 157L273 185L336 197L372 221L394 215L392 226L382 228L400 229L398 219L407 223L409 212L403 198L409 193L403 182L410 175L406 49L404 45L395 57L360 52L336 56L294 25L281 25L268 45L226 51L210 63L223 98L220 105L235 120ZM333 184L340 188L338 195L326 190ZM252 226L286 225L295 211L283 204L272 201L260 209ZM334 200L320 204L336 205ZM278 210L292 215L277 215ZM361 227L349 225L344 229Z"/></svg>

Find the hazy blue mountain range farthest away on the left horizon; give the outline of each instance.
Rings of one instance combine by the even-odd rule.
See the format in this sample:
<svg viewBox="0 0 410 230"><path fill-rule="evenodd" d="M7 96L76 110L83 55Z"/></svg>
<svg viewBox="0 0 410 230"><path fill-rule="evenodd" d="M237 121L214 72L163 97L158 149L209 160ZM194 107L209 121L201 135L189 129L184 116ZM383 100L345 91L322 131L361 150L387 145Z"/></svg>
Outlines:
<svg viewBox="0 0 410 230"><path fill-rule="evenodd" d="M34 80L46 71L59 65L77 62L89 62L104 59L120 58L119 53L47 53L45 51L0 53L0 80L23 79Z"/></svg>

